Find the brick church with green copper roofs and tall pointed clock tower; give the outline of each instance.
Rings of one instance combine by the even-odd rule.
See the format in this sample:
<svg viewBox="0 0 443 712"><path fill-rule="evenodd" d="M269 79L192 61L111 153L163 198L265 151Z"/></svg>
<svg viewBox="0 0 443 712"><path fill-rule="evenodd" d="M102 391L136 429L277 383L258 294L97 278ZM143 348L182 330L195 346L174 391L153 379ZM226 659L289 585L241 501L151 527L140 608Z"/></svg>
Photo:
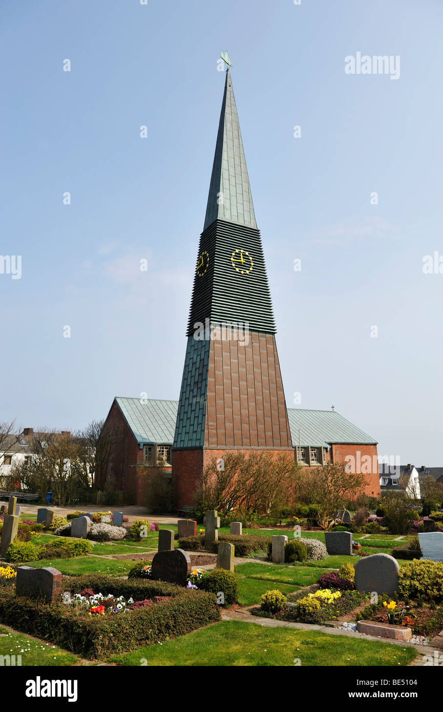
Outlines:
<svg viewBox="0 0 443 712"><path fill-rule="evenodd" d="M301 466L377 456L337 412L286 409L264 251L256 225L231 73L226 70L209 197L195 263L179 401L116 398L113 477L142 503L140 467L172 473L177 509L192 504L212 456L273 451ZM365 488L380 495L378 468Z"/></svg>

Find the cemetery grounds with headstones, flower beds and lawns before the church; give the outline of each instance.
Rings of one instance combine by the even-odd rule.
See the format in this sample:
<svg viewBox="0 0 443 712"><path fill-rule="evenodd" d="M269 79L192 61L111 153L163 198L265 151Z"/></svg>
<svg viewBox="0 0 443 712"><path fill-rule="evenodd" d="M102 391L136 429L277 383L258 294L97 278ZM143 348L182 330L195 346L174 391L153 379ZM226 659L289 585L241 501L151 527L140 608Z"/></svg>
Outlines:
<svg viewBox="0 0 443 712"><path fill-rule="evenodd" d="M269 631L255 624L266 620L303 624L303 640L321 635L323 641L338 630L344 637L338 646L334 637L329 660L341 656L346 662L337 664L348 664L350 651L359 649L366 664L385 665L409 664L441 640L441 532L417 538L413 530L397 536L251 529L239 521L221 527L217 511L207 511L202 525L191 519L158 525L125 522L118 512L9 514L14 507L11 498L0 515L5 640L28 634L89 664L131 664L140 651L150 664L161 664L155 662L160 643L174 658L188 638L208 645L207 631L217 636L217 627L238 629L245 639L252 628L266 639ZM350 639L354 631L363 638ZM293 644L298 640L292 629L272 632L283 648L288 632ZM217 659L226 646L229 641Z"/></svg>

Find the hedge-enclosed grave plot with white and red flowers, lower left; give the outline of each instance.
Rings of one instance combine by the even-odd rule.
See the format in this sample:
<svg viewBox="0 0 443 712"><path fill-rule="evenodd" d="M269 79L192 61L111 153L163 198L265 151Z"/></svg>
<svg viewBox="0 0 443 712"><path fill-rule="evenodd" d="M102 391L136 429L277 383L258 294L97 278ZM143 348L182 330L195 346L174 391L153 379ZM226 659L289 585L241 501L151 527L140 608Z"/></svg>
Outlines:
<svg viewBox="0 0 443 712"><path fill-rule="evenodd" d="M174 552L159 555L165 554ZM168 575L170 570L167 562ZM184 635L220 619L214 595L169 582L63 577L51 567L21 567L16 573L0 586L0 623L87 659Z"/></svg>

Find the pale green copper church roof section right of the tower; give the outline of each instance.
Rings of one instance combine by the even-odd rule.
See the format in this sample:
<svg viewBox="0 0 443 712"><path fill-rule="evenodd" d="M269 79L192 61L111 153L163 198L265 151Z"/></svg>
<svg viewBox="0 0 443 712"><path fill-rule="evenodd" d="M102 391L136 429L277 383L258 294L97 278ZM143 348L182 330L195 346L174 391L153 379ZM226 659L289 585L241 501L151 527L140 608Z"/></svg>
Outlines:
<svg viewBox="0 0 443 712"><path fill-rule="evenodd" d="M377 441L333 410L288 408L293 446L325 447L333 444L376 445Z"/></svg>

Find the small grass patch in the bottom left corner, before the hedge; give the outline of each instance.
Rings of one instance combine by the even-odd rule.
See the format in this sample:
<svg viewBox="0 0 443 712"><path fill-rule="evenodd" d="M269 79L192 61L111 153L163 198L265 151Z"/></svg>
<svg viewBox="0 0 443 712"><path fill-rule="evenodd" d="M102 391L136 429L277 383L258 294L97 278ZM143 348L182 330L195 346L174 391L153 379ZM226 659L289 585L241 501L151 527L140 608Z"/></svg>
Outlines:
<svg viewBox="0 0 443 712"><path fill-rule="evenodd" d="M0 629L1 631L4 629ZM40 640L22 633L0 635L0 655L21 655L21 666L66 666L78 664L78 658L66 653L52 643L42 643Z"/></svg>

